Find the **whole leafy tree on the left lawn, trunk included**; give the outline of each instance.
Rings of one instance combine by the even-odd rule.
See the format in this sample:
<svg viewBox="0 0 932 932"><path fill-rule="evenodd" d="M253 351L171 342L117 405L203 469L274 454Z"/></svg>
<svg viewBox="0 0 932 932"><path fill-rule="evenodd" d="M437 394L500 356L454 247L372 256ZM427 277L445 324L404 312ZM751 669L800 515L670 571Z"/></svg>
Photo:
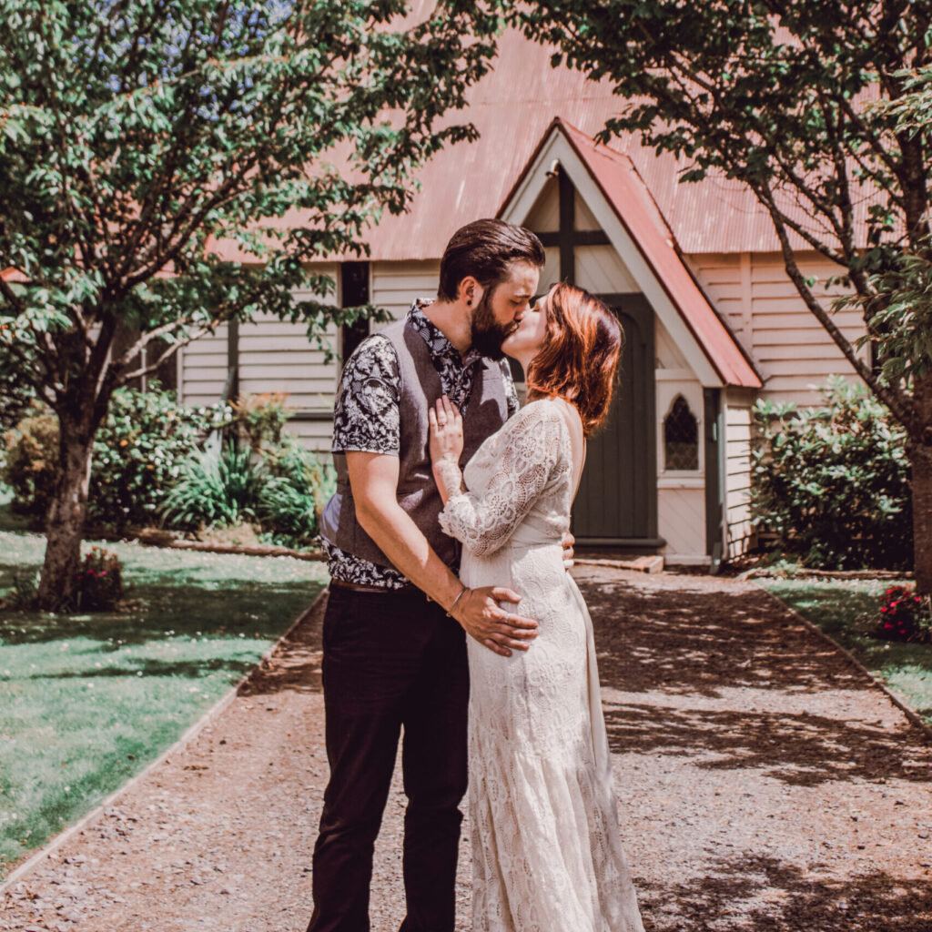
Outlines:
<svg viewBox="0 0 932 932"><path fill-rule="evenodd" d="M487 69L495 21L441 3L412 25L407 7L0 0L0 271L20 273L0 279L0 342L61 426L45 608L74 599L113 392L259 311L319 334L334 308L292 300L327 284L308 262L360 254L418 164L472 138L440 117Z"/></svg>

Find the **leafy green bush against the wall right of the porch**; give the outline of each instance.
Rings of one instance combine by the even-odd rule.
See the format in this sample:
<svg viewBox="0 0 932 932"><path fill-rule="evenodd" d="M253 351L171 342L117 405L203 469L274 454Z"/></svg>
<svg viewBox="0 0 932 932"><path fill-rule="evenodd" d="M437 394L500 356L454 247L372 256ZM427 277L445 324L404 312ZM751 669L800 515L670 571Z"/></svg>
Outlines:
<svg viewBox="0 0 932 932"><path fill-rule="evenodd" d="M808 566L909 569L905 434L865 389L836 378L823 394L824 407L755 405L752 519Z"/></svg>

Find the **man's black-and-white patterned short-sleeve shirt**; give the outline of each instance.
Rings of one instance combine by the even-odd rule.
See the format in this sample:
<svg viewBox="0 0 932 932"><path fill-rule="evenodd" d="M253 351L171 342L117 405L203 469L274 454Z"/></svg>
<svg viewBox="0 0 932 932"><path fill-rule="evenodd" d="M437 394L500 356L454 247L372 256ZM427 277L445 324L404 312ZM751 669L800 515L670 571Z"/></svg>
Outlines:
<svg viewBox="0 0 932 932"><path fill-rule="evenodd" d="M466 410L473 392L473 379L481 356L474 350L459 355L459 350L428 320L422 308L431 299L418 298L407 314L431 350L431 358L440 385L447 398ZM508 398L508 416L518 409L517 393L508 363L501 361ZM401 450L399 415L400 375L398 357L389 339L380 334L366 337L349 357L340 377L334 409L334 453L358 451L398 456ZM362 583L400 589L409 584L397 569L381 567L340 550L324 541L330 575L344 583Z"/></svg>

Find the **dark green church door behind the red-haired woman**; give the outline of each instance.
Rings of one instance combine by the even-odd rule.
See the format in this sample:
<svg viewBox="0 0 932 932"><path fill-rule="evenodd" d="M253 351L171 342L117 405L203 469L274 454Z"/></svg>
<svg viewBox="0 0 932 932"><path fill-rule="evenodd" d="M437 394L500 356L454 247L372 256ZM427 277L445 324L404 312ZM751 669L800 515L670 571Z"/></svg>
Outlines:
<svg viewBox="0 0 932 932"><path fill-rule="evenodd" d="M644 295L599 295L624 327L608 421L590 438L573 505L580 544L657 547L653 310Z"/></svg>

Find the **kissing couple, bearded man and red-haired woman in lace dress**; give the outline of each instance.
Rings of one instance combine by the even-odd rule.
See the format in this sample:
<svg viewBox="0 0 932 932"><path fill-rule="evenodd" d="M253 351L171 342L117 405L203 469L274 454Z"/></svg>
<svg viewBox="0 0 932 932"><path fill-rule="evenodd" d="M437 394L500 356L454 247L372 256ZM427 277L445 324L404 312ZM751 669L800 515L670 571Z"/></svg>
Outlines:
<svg viewBox="0 0 932 932"><path fill-rule="evenodd" d="M474 932L643 932L592 621L566 565L624 335L569 284L535 301L543 264L521 226L463 226L436 298L343 370L322 515L330 780L308 932L369 929L402 733L401 932L455 928L467 782ZM520 409L503 354L525 372Z"/></svg>

